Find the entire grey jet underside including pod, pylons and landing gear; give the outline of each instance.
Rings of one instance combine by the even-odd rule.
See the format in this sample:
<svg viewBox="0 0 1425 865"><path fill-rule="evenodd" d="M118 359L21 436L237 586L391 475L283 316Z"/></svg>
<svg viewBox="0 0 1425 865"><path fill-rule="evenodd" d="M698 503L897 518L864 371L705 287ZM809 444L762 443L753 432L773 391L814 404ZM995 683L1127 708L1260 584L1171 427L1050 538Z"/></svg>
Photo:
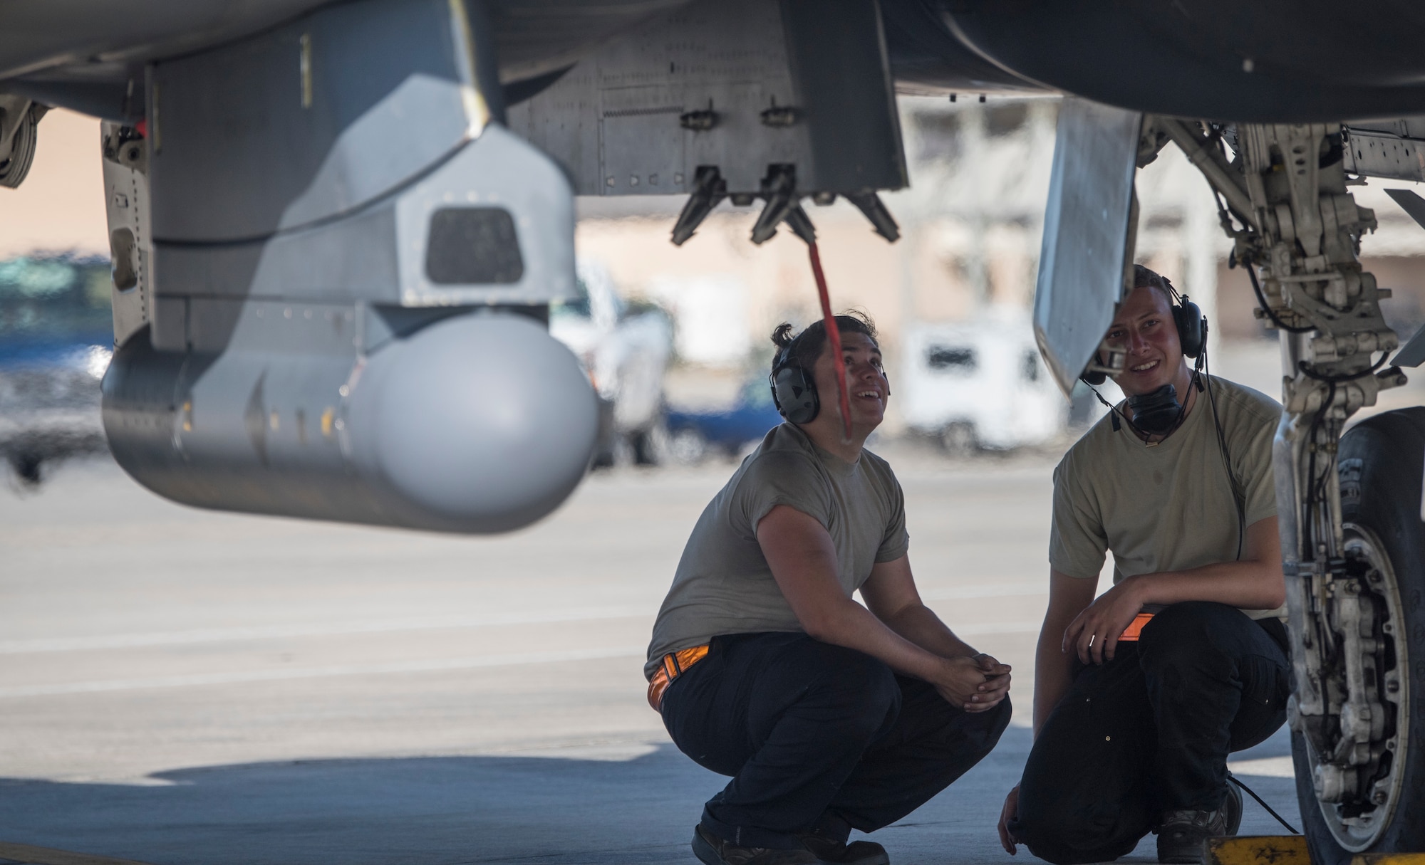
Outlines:
<svg viewBox="0 0 1425 865"><path fill-rule="evenodd" d="M844 196L898 236L895 92L1064 94L1036 334L1066 388L1173 141L1281 331L1277 437L1298 791L1317 862L1425 851L1425 410L1362 272L1359 176L1425 179L1425 7L1224 0L20 0L0 184L48 107L104 120L104 428L175 501L455 532L583 477L597 405L549 337L574 195L721 201L751 240ZM1382 120L1384 118L1384 120ZM1204 192L1206 193L1206 192ZM1425 219L1425 201L1401 195ZM1425 222L1422 222L1425 223ZM1092 361L1092 366L1090 366Z"/></svg>

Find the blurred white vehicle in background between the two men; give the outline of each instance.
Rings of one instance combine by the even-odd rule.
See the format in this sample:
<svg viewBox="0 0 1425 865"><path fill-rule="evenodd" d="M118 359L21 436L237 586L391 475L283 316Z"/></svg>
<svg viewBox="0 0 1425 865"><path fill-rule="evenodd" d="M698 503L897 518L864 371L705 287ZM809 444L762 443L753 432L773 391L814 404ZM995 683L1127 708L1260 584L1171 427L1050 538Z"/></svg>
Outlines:
<svg viewBox="0 0 1425 865"><path fill-rule="evenodd" d="M950 451L1043 444L1069 420L1069 401L1045 368L1020 310L909 329L905 368L892 388L906 425Z"/></svg>

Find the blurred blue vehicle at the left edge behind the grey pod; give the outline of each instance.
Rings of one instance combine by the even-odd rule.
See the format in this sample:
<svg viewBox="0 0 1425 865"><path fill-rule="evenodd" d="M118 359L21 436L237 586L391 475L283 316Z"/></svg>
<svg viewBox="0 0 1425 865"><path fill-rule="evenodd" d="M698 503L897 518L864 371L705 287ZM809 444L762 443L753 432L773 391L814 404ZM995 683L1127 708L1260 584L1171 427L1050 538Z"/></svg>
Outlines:
<svg viewBox="0 0 1425 865"><path fill-rule="evenodd" d="M107 450L100 380L113 356L110 262L0 262L0 457L26 484L41 467Z"/></svg>

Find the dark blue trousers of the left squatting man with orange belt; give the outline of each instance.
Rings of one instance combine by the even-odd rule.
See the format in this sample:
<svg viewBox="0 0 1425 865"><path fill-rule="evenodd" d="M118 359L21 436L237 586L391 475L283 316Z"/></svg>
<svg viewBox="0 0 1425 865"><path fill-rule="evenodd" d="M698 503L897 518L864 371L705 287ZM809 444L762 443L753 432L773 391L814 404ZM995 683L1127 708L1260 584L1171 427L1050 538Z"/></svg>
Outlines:
<svg viewBox="0 0 1425 865"><path fill-rule="evenodd" d="M794 849L901 819L989 754L1009 700L946 703L879 660L802 633L714 637L668 686L663 723L698 765L732 780L703 827L742 847Z"/></svg>

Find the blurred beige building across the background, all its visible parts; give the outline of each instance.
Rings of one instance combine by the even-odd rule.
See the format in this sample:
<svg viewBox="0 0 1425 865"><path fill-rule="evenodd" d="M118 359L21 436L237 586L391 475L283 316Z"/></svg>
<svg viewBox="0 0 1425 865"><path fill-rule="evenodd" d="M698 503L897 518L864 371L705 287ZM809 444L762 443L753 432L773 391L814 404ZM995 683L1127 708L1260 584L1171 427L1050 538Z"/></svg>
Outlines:
<svg viewBox="0 0 1425 865"><path fill-rule="evenodd" d="M1056 100L902 97L899 104L911 186L885 202L902 239L886 243L845 202L808 203L832 304L875 319L892 374L906 368L901 351L911 324L1029 307L1057 120ZM1395 290L1385 313L1404 339L1425 322L1425 230L1384 193L1385 185L1372 179L1352 191L1379 219L1362 258ZM1139 172L1139 260L1203 306L1213 349L1220 340L1255 344L1265 357L1265 341L1255 341L1265 334L1251 314L1255 300L1245 275L1227 267L1230 243L1207 182L1168 145ZM761 202L724 202L675 248L668 233L683 201L580 199L579 250L607 267L626 299L673 314L675 401L731 400L768 361L767 337L778 322L817 316L807 250L785 230L762 246L751 243ZM53 111L40 124L30 178L17 191L0 189L0 259L34 250L107 253L107 246L98 122ZM1275 371L1254 363L1264 367L1258 386L1273 393ZM889 428L901 428L895 400L891 411Z"/></svg>

